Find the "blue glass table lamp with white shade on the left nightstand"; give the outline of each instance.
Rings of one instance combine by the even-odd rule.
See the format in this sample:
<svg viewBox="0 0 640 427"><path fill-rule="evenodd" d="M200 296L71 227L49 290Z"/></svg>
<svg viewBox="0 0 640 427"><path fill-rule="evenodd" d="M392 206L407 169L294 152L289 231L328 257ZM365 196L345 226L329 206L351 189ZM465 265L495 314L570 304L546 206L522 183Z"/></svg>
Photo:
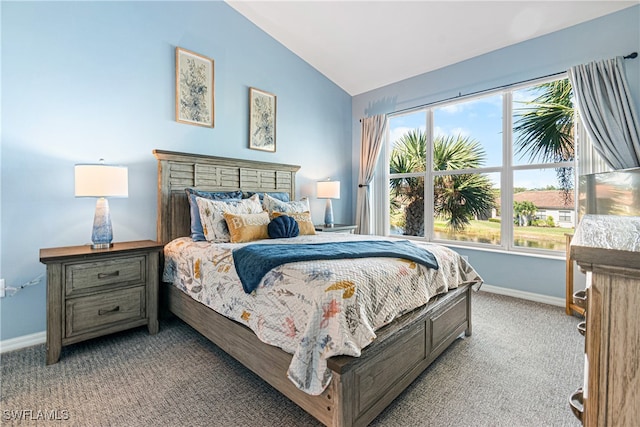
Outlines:
<svg viewBox="0 0 640 427"><path fill-rule="evenodd" d="M97 197L93 217L91 248L106 249L113 246L113 229L107 197L128 197L128 169L126 166L98 164L75 165L76 197Z"/></svg>

